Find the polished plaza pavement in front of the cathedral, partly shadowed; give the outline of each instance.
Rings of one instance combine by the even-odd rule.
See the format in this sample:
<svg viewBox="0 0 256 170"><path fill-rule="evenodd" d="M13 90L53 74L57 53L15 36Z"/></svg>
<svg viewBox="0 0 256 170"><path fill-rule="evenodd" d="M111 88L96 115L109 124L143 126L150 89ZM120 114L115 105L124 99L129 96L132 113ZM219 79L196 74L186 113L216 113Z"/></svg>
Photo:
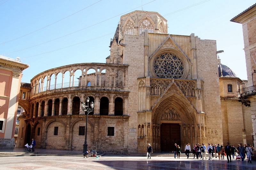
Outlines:
<svg viewBox="0 0 256 170"><path fill-rule="evenodd" d="M18 149L19 150L19 149ZM24 148L22 148L24 150ZM36 149L39 152L41 149ZM11 151L11 150L10 150ZM69 152L75 153L81 151L62 151L62 150L45 150L48 152ZM1 154L0 150L0 154ZM4 151L6 152L6 150ZM16 149L17 152L17 149ZM2 152L3 153L3 152ZM146 154L145 154L146 155ZM174 159L174 157L168 156L154 156L151 159L147 159L146 156L127 156L127 155L114 155L105 154L100 158L83 156L9 156L0 158L0 169L36 169L36 170L63 170L63 169L256 169L256 162L252 161L252 164L247 160L241 163L240 160L232 160L231 163L227 163L227 159L219 160L213 158L212 160L200 160L193 159L192 156L187 159L186 157L180 157L180 159Z"/></svg>

